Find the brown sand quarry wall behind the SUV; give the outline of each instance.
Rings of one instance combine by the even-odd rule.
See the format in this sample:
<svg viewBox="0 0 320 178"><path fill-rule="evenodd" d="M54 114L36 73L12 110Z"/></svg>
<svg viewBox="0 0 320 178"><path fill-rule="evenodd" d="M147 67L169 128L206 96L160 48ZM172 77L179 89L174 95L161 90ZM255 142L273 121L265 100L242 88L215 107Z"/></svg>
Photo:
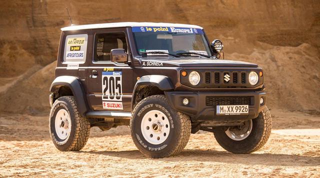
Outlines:
<svg viewBox="0 0 320 178"><path fill-rule="evenodd" d="M269 108L320 109L318 0L1 0L0 112L48 112L60 27L118 21L191 23L225 58L264 69ZM52 63L53 62L53 63Z"/></svg>

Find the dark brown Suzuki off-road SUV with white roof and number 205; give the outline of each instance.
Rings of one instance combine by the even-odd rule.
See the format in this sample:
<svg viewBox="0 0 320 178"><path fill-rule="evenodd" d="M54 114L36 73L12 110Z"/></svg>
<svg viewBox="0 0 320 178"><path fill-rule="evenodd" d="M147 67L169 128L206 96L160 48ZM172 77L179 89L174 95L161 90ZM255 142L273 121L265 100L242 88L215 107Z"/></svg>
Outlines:
<svg viewBox="0 0 320 178"><path fill-rule="evenodd" d="M210 44L202 27L121 22L61 30L49 96L58 150L81 150L94 126L129 126L138 150L152 158L178 154L199 130L236 154L267 141L262 69L219 59L221 41Z"/></svg>

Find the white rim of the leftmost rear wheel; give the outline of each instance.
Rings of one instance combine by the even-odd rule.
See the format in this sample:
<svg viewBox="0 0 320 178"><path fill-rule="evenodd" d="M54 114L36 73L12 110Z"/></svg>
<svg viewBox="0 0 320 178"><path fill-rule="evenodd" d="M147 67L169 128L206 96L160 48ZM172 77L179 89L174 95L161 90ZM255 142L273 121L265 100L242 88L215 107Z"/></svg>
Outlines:
<svg viewBox="0 0 320 178"><path fill-rule="evenodd" d="M71 119L65 109L60 109L55 115L55 133L59 139L65 140L71 132Z"/></svg>

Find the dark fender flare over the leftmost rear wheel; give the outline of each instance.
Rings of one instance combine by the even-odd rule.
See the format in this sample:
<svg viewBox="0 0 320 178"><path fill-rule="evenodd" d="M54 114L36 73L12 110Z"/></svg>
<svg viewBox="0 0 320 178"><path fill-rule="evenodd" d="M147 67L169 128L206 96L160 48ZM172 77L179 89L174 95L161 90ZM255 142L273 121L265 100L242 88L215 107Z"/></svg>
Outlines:
<svg viewBox="0 0 320 178"><path fill-rule="evenodd" d="M56 77L50 86L50 92L57 93L61 86L66 86L70 88L74 96L79 114L82 117L85 117L85 113L88 111L88 109L85 102L86 98L85 98L84 90L80 80L73 76Z"/></svg>

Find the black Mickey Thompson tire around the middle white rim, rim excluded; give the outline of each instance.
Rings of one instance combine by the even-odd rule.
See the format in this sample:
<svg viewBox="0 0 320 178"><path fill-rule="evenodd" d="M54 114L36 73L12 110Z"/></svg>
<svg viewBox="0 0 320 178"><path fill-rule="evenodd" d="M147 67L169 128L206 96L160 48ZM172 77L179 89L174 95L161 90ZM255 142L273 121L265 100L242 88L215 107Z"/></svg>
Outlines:
<svg viewBox="0 0 320 178"><path fill-rule="evenodd" d="M158 145L146 141L141 131L143 116L152 110L163 112L167 118L169 113L172 121L170 126L173 128L170 127L166 140ZM133 109L130 130L132 140L142 154L151 158L164 158L175 156L184 149L190 137L191 122L188 116L172 109L164 95L153 95L141 100Z"/></svg>

